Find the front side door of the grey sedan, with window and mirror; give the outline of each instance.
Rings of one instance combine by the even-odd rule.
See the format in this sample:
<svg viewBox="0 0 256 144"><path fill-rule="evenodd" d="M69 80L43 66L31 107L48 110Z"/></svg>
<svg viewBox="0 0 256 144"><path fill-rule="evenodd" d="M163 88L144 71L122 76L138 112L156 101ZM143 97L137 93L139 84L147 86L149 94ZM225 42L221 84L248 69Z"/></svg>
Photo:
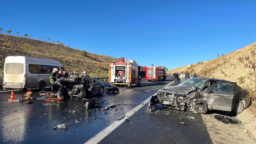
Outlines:
<svg viewBox="0 0 256 144"><path fill-rule="evenodd" d="M233 87L235 82L222 82L209 87L212 92L207 94L207 89L204 90L204 96L207 98L209 109L231 111L232 101L234 97Z"/></svg>

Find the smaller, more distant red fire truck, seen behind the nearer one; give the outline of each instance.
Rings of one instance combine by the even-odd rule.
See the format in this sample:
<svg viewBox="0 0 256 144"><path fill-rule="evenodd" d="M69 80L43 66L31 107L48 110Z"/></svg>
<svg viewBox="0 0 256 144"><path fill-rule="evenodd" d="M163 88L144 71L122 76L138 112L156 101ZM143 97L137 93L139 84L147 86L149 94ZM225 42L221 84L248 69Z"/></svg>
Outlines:
<svg viewBox="0 0 256 144"><path fill-rule="evenodd" d="M165 81L166 80L166 71L168 71L167 68L164 66L156 66L153 67L146 67L146 81Z"/></svg>

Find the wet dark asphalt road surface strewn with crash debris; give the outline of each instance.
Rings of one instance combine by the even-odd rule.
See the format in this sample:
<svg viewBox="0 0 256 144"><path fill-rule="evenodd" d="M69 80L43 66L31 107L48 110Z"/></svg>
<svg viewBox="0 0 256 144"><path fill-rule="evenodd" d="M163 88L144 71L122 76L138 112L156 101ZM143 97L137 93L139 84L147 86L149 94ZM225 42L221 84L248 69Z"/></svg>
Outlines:
<svg viewBox="0 0 256 144"><path fill-rule="evenodd" d="M96 96L97 102L107 100L92 109L86 109L80 99L61 100L53 105L43 105L49 104L43 100L31 104L8 101L11 91L1 91L0 143L211 143L201 115L163 107L152 113L147 104L140 104L173 83L173 77L168 76L167 81L143 80L136 87L119 87L120 93ZM16 99L24 94L14 91ZM101 110L109 105L117 106ZM124 115L129 121L118 121ZM67 124L67 129L52 129L58 124Z"/></svg>

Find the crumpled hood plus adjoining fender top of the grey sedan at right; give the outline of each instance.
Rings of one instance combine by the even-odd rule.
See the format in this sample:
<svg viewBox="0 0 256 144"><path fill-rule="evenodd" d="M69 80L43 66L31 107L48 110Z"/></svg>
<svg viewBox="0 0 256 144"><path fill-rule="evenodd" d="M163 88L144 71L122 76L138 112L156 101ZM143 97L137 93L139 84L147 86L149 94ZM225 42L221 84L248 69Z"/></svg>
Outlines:
<svg viewBox="0 0 256 144"><path fill-rule="evenodd" d="M188 85L177 85L177 86L165 87L163 89L158 90L158 92L170 93L170 94L185 96L189 98L204 97L203 93L199 91L197 87L188 86Z"/></svg>

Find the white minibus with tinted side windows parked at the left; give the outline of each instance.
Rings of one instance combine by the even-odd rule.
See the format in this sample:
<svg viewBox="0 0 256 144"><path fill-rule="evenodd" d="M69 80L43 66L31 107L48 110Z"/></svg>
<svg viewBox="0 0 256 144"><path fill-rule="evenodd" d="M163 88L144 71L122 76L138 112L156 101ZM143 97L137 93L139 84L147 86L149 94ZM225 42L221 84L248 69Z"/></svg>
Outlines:
<svg viewBox="0 0 256 144"><path fill-rule="evenodd" d="M57 60L36 57L8 56L4 62L4 88L20 90L39 89L44 91L50 87L50 73L53 68L65 69Z"/></svg>

